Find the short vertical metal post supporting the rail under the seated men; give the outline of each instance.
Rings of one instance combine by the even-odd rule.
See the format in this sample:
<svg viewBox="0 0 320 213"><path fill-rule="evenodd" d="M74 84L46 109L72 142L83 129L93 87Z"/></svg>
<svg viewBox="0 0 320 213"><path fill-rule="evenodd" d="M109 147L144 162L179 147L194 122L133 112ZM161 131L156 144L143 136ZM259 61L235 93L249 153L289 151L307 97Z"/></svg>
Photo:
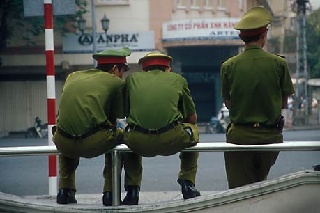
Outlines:
<svg viewBox="0 0 320 213"><path fill-rule="evenodd" d="M121 180L120 180L120 169L121 159L120 152L118 150L112 150L112 205L120 205L121 197Z"/></svg>

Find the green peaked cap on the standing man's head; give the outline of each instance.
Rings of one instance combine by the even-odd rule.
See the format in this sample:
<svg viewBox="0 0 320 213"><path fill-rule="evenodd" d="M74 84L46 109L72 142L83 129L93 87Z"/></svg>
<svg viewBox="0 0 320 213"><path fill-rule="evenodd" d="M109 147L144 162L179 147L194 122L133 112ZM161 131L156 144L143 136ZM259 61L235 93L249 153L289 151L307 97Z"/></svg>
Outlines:
<svg viewBox="0 0 320 213"><path fill-rule="evenodd" d="M241 36L254 36L266 31L271 22L271 13L264 7L256 6L247 10L234 29L240 30Z"/></svg>

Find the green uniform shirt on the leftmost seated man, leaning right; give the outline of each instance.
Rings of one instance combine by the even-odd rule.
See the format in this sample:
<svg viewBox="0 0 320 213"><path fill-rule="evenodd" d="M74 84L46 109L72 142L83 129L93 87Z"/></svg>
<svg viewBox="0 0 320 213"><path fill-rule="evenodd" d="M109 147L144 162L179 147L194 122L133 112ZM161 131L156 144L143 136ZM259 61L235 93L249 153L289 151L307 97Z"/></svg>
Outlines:
<svg viewBox="0 0 320 213"><path fill-rule="evenodd" d="M100 123L123 118L124 85L122 79L102 70L69 74L60 99L58 126L80 135Z"/></svg>

